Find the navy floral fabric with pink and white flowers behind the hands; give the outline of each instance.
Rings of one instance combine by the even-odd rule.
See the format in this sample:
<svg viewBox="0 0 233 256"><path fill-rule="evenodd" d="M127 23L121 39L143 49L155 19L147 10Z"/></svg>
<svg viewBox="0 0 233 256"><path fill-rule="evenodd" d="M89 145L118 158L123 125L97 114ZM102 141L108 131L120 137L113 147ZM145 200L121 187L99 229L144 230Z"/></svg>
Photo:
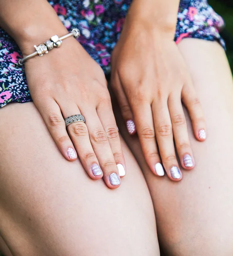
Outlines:
<svg viewBox="0 0 233 256"><path fill-rule="evenodd" d="M131 0L50 0L64 26L78 27L78 41L97 61L105 74L110 72L110 56L121 33ZM207 0L181 0L174 40L182 38L218 40L224 25L222 18L208 5ZM21 57L14 40L0 29L0 107L9 102L30 102L32 98L23 68L14 63Z"/></svg>

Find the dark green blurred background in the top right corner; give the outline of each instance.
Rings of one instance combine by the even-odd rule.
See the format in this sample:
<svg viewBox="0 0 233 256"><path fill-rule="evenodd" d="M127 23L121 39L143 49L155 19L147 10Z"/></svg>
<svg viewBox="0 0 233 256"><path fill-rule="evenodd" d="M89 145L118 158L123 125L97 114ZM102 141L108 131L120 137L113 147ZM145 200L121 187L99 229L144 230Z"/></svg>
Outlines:
<svg viewBox="0 0 233 256"><path fill-rule="evenodd" d="M220 34L226 41L227 58L233 72L233 0L208 0L208 2L225 21L226 26Z"/></svg>

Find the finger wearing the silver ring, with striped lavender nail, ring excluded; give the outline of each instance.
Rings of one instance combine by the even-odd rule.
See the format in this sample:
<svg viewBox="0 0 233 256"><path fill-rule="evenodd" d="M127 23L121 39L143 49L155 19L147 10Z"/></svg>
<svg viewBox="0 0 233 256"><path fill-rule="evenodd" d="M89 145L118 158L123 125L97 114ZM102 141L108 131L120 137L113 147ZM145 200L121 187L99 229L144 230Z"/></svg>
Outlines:
<svg viewBox="0 0 233 256"><path fill-rule="evenodd" d="M61 103L63 117L81 114L78 106L74 104ZM95 180L103 177L103 172L99 166L98 159L92 148L88 129L84 122L74 122L67 126L69 137L71 138L78 152L78 157L86 170L87 174Z"/></svg>

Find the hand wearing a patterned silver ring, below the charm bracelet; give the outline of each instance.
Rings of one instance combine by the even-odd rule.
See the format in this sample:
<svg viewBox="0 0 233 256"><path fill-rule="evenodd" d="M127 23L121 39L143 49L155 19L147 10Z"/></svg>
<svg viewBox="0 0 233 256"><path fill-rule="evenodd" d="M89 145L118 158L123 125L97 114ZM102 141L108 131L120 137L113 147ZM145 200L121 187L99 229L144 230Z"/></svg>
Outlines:
<svg viewBox="0 0 233 256"><path fill-rule="evenodd" d="M33 102L63 156L72 161L78 153L92 179L103 177L111 189L120 186L126 166L101 67L78 41L67 38L60 48L26 61L25 73ZM66 130L64 118L76 114L86 123L74 122Z"/></svg>

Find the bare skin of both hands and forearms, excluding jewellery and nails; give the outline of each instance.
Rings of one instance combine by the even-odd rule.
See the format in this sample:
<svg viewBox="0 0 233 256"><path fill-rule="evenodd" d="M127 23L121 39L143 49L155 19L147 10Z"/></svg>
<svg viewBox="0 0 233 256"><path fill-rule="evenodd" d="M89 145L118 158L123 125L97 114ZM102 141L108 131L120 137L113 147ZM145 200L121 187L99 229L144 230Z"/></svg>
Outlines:
<svg viewBox="0 0 233 256"><path fill-rule="evenodd" d="M124 119L135 119L144 157L152 172L157 175L155 164L161 162L168 177L178 181L182 174L175 178L170 172L174 166L179 168L175 146L181 166L194 167L184 166L185 155L193 157L193 153L181 98L190 112L198 140L199 131L205 129L204 116L187 67L173 42L179 1L149 0L143 8L142 3L135 0L130 6L112 54L111 84ZM46 41L55 32L67 33L46 0L40 1L40 9L33 0L0 0L0 10L0 25L12 35L23 56L32 52L32 45ZM12 12L17 15L9 19ZM25 20L28 13L33 15ZM50 20L49 26L46 20ZM168 70L172 70L170 76ZM63 156L70 161L78 156L90 177L103 177L109 188L118 188L120 184L112 185L109 177L115 173L119 178L117 165L122 164L124 170L126 165L106 79L98 64L74 38L69 38L43 58L37 56L26 61L25 73L33 102ZM86 123L72 123L66 129L63 119L74 114L86 116ZM69 157L70 150L75 157ZM102 169L102 175L93 174L93 165Z"/></svg>

